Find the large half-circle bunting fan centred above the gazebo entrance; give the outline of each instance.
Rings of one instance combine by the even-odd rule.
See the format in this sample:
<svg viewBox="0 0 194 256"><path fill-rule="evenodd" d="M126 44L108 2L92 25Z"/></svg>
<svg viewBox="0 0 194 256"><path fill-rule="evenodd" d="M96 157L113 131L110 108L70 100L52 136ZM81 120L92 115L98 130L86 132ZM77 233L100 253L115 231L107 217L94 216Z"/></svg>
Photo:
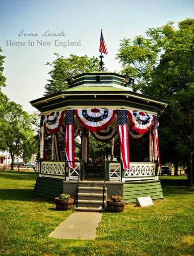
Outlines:
<svg viewBox="0 0 194 256"><path fill-rule="evenodd" d="M81 125L92 131L106 128L116 115L116 110L78 109L74 113Z"/></svg>

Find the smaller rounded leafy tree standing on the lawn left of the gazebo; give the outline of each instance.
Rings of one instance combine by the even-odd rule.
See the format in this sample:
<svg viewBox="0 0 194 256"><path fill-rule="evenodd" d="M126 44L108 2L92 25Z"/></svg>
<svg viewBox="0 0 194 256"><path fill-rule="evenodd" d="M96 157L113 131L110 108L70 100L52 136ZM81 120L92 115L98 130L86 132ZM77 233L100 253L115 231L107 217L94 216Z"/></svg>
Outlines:
<svg viewBox="0 0 194 256"><path fill-rule="evenodd" d="M29 115L22 110L22 106L15 102L7 102L6 115L4 117L2 132L4 132L4 144L8 149L12 163L15 156L20 156L24 160L36 153L36 142L32 124L35 116Z"/></svg>

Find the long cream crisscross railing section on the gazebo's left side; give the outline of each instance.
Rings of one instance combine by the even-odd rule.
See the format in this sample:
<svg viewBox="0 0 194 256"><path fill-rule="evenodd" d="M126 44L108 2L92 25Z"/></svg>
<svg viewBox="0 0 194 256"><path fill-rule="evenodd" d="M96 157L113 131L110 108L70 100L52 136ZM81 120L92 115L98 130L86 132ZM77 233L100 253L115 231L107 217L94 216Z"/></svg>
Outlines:
<svg viewBox="0 0 194 256"><path fill-rule="evenodd" d="M40 176L65 179L65 162L64 161L42 162Z"/></svg>

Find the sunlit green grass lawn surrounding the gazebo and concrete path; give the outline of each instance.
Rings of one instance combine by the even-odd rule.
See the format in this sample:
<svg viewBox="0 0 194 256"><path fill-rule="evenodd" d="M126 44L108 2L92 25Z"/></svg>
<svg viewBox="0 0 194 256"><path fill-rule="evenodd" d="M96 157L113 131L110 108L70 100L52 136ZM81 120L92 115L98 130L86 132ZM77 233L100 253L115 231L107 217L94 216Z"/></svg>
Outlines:
<svg viewBox="0 0 194 256"><path fill-rule="evenodd" d="M37 174L0 171L0 255L192 256L194 189L187 176L160 176L164 201L103 213L95 240L49 238L72 211L32 198ZM87 227L86 227L87 228Z"/></svg>

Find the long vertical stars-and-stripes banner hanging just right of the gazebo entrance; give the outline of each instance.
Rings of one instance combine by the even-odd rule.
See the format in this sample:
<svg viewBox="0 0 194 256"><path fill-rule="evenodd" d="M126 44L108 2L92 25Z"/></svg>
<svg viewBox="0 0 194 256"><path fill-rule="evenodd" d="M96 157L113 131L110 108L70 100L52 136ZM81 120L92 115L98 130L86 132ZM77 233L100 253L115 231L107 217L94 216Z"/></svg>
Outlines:
<svg viewBox="0 0 194 256"><path fill-rule="evenodd" d="M123 159L123 168L124 170L129 170L129 136L128 136L128 124L127 124L127 111L118 110L117 120L118 120L118 128L119 128L121 155Z"/></svg>

